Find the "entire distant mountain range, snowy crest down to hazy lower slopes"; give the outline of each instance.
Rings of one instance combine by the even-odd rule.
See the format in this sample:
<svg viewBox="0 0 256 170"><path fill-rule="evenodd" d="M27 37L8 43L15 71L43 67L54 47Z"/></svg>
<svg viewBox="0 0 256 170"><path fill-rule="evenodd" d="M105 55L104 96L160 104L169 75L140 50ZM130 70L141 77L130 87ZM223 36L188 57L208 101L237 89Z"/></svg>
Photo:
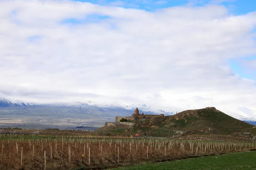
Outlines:
<svg viewBox="0 0 256 170"><path fill-rule="evenodd" d="M34 103L0 98L0 126L20 128L73 129L77 126L101 127L113 122L115 116L131 116L138 107L145 114L174 115L193 107L174 108L168 106L125 105L103 102L55 102ZM256 111L247 108L218 108L236 119L255 124Z"/></svg>

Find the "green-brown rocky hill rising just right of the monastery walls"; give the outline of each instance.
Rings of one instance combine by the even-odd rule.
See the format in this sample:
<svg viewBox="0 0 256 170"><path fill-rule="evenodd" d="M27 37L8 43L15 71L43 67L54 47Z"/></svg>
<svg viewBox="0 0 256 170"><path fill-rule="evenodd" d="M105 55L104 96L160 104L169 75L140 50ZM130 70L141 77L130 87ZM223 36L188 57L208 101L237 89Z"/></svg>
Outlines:
<svg viewBox="0 0 256 170"><path fill-rule="evenodd" d="M186 131L207 130L209 133L232 133L233 131L241 131L254 127L213 107L183 111L173 116L145 119L142 122L138 122L138 125Z"/></svg>

